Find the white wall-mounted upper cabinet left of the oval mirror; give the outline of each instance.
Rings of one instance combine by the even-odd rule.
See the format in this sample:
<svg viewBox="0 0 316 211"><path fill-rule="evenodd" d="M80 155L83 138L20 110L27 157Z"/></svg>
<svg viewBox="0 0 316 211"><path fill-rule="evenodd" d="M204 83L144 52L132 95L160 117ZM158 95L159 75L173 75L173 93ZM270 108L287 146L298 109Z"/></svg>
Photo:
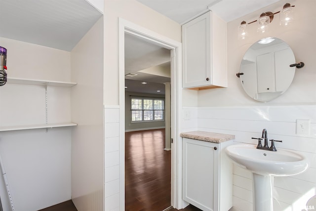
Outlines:
<svg viewBox="0 0 316 211"><path fill-rule="evenodd" d="M227 87L226 22L212 11L182 26L183 88Z"/></svg>

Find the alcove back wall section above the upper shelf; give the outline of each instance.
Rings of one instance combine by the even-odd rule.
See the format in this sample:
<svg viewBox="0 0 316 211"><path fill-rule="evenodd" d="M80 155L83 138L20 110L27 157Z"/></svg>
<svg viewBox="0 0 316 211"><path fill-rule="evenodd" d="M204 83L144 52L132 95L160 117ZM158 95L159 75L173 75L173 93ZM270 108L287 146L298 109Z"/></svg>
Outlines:
<svg viewBox="0 0 316 211"><path fill-rule="evenodd" d="M7 48L8 77L70 81L70 52L1 38Z"/></svg>

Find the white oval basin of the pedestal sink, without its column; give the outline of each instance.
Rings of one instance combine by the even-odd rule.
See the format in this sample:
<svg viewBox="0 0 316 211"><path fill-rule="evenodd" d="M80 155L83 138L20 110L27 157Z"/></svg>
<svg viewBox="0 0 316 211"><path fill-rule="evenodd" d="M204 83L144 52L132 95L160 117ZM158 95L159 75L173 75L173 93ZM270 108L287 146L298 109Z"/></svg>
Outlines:
<svg viewBox="0 0 316 211"><path fill-rule="evenodd" d="M251 144L228 146L227 155L237 164L261 175L289 176L305 171L308 160L291 150L277 149L276 152L256 149Z"/></svg>

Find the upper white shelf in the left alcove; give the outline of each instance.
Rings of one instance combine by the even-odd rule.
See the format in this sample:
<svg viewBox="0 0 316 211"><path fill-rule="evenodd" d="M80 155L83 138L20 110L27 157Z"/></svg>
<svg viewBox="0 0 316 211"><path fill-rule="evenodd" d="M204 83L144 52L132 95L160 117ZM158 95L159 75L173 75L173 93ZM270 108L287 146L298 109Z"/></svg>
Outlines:
<svg viewBox="0 0 316 211"><path fill-rule="evenodd" d="M7 78L8 84L27 84L27 85L48 85L48 86L64 86L72 87L77 85L73 82L58 82L58 81L44 81L44 80L33 80L33 79L20 79L20 78Z"/></svg>

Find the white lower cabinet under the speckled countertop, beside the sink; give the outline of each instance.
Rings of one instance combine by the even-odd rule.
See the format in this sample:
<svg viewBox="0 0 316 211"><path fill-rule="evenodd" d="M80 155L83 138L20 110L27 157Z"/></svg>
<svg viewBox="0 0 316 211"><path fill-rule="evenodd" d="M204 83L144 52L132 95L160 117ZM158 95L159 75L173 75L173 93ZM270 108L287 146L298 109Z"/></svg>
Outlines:
<svg viewBox="0 0 316 211"><path fill-rule="evenodd" d="M233 206L233 164L222 143L183 138L183 200L203 211Z"/></svg>

